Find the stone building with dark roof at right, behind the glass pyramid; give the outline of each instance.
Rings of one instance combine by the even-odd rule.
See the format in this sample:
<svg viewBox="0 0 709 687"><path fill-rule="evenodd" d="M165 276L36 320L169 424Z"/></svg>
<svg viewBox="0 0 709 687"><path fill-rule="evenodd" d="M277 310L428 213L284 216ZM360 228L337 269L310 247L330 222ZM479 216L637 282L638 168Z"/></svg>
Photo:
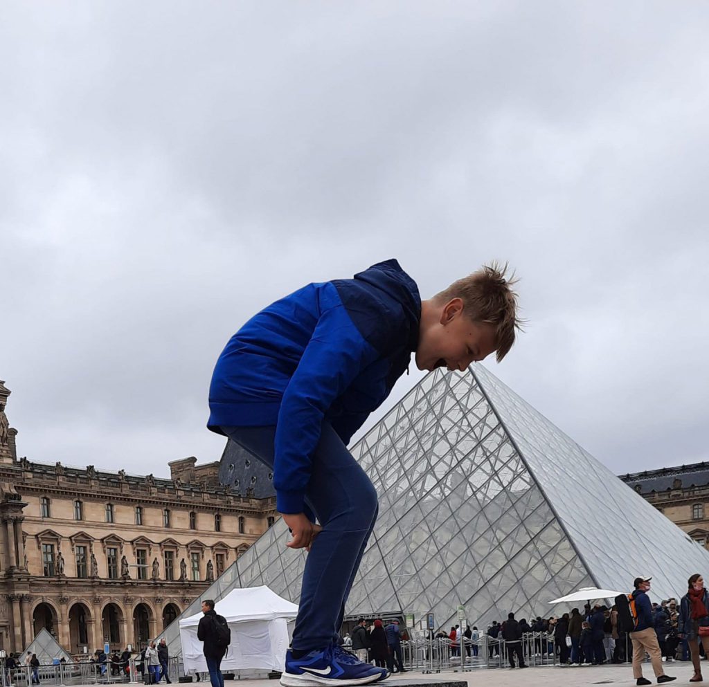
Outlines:
<svg viewBox="0 0 709 687"><path fill-rule="evenodd" d="M709 547L709 462L633 472L620 479L698 544Z"/></svg>

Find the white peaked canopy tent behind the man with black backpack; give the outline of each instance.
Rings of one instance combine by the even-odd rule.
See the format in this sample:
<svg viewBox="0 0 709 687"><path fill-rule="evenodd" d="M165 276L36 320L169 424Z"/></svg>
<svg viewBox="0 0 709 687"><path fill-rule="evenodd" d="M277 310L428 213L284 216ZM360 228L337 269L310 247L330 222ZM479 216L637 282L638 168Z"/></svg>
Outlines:
<svg viewBox="0 0 709 687"><path fill-rule="evenodd" d="M222 671L285 669L298 606L274 594L267 586L233 589L216 603L214 610L226 618L231 644L222 661ZM197 639L201 611L179 621L184 671L206 672L202 642Z"/></svg>

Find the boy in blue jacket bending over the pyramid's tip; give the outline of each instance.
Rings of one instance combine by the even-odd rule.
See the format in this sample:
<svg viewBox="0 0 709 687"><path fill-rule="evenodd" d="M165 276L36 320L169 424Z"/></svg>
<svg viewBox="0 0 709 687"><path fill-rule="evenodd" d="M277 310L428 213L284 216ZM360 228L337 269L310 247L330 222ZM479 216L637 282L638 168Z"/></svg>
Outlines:
<svg viewBox="0 0 709 687"><path fill-rule="evenodd" d="M388 676L336 642L377 513L372 482L347 443L413 351L420 370L465 370L493 351L502 360L515 340L516 307L495 265L422 302L411 277L388 260L269 305L221 353L208 427L273 467L277 509L293 535L287 546L310 552L281 684Z"/></svg>

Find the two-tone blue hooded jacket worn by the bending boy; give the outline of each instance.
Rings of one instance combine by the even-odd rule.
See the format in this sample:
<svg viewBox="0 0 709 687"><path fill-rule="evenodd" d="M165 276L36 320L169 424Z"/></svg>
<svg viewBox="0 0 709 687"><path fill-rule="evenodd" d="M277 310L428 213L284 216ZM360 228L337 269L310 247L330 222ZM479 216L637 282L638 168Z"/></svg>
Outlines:
<svg viewBox="0 0 709 687"><path fill-rule="evenodd" d="M219 356L208 428L276 426L281 513L301 513L323 420L347 444L418 344L418 287L396 260L313 283L252 317Z"/></svg>

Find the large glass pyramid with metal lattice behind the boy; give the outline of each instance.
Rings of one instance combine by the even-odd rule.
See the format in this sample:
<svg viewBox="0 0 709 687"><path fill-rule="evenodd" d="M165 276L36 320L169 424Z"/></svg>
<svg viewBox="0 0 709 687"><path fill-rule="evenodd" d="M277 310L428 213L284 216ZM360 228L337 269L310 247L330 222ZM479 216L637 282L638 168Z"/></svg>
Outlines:
<svg viewBox="0 0 709 687"><path fill-rule="evenodd" d="M379 518L347 614L435 614L464 606L478 627L563 613L585 586L679 598L709 552L482 365L427 375L352 449ZM298 603L306 554L278 521L201 598L268 585ZM195 601L184 615L199 611ZM179 652L177 623L166 631Z"/></svg>

